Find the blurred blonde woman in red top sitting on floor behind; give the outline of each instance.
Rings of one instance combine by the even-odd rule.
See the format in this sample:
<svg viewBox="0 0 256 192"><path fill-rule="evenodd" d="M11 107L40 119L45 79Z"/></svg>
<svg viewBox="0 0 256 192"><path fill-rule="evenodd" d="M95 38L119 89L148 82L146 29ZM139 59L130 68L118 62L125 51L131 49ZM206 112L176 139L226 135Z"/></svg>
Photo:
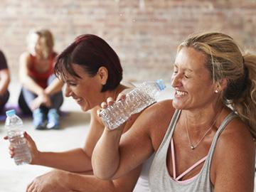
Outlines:
<svg viewBox="0 0 256 192"><path fill-rule="evenodd" d="M36 129L59 129L59 110L63 104L63 82L53 73L57 53L53 35L47 29L28 34L28 52L20 57L19 78L22 84L18 105L33 114Z"/></svg>

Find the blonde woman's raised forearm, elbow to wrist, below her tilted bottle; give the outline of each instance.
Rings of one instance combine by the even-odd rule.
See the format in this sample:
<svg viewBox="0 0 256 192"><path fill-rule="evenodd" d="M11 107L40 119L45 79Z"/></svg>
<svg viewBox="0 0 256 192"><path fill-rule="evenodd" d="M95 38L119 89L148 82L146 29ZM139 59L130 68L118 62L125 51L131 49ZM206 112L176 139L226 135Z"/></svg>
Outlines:
<svg viewBox="0 0 256 192"><path fill-rule="evenodd" d="M105 128L92 153L92 168L101 179L112 178L119 167L119 141L122 129Z"/></svg>

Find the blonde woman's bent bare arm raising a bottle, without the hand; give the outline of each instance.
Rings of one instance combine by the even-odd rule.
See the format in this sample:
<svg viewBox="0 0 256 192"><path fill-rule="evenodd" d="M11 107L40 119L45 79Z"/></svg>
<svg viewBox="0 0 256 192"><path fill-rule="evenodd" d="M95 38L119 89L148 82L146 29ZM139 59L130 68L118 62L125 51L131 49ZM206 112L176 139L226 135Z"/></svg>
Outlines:
<svg viewBox="0 0 256 192"><path fill-rule="evenodd" d="M162 106L156 103L144 110L122 137L122 127L113 131L105 128L92 154L95 176L102 179L118 178L149 158L162 139L163 134L159 139L151 137L151 132L157 127L164 127L156 121L163 114L159 113ZM164 133L164 129L158 129L158 132Z"/></svg>

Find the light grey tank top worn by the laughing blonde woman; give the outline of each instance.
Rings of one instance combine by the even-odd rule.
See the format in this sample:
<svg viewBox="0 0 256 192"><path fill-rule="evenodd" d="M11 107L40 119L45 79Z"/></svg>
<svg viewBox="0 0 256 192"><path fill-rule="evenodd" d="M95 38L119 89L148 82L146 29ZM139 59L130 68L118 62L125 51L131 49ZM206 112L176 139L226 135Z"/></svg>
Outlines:
<svg viewBox="0 0 256 192"><path fill-rule="evenodd" d="M166 154L169 149L169 144L171 141L171 137L174 133L174 129L176 127L176 122L178 120L179 114L181 110L176 110L174 116L171 119L171 123L167 132L164 136L159 149L156 151L156 155L151 164L151 168L149 171L149 186L151 191L154 192L164 192L164 191L178 191L178 192L210 192L213 191L213 185L210 183L210 162L213 157L213 152L215 149L215 145L217 142L220 133L223 131L225 126L230 122L233 118L237 117L235 113L228 114L227 117L223 120L222 124L218 128L213 142L210 146L210 150L208 152L208 156L206 158L205 163L199 174L192 181L188 183L178 183L169 175L169 171L166 165Z"/></svg>

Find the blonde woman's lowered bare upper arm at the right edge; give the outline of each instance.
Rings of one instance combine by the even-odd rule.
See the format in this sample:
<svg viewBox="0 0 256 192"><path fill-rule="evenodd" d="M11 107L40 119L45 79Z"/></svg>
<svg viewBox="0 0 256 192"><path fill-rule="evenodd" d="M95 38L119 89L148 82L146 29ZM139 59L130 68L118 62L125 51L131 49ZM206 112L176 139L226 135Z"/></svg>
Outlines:
<svg viewBox="0 0 256 192"><path fill-rule="evenodd" d="M220 136L210 171L215 192L254 190L255 144L240 120L230 122Z"/></svg>

